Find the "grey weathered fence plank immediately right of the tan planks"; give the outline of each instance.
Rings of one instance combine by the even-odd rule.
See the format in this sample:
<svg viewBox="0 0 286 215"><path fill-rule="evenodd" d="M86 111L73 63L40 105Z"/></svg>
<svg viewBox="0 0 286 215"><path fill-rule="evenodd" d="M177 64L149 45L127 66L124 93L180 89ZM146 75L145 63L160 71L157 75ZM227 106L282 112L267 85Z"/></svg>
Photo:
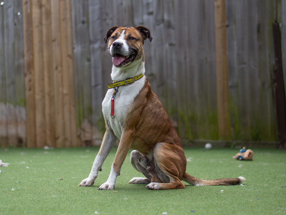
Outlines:
<svg viewBox="0 0 286 215"><path fill-rule="evenodd" d="M88 2L72 1L73 3L73 32L74 32L74 65L76 71L77 88L77 116L78 128L82 142L92 142L92 101L90 74L90 40L88 28Z"/></svg>

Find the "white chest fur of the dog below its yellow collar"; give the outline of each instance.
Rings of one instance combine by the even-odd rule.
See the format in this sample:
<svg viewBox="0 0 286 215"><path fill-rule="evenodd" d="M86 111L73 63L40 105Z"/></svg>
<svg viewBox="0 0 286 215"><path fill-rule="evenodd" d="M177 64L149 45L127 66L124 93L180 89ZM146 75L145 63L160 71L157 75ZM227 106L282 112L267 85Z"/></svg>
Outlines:
<svg viewBox="0 0 286 215"><path fill-rule="evenodd" d="M131 85L118 87L114 99L114 119L110 117L111 112L111 97L113 89L109 89L102 102L102 112L104 119L110 125L115 136L120 140L123 128L123 122L128 117L134 98L138 95L145 83L145 76L135 81Z"/></svg>

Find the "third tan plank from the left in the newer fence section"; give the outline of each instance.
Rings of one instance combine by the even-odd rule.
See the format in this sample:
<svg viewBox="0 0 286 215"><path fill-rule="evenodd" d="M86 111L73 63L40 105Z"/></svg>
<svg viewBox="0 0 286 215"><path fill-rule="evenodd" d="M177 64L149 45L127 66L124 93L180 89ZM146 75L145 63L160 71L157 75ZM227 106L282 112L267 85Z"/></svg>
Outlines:
<svg viewBox="0 0 286 215"><path fill-rule="evenodd" d="M42 0L43 20L43 73L45 83L45 126L47 146L55 147L55 93L53 71L53 46L51 28L51 1Z"/></svg>

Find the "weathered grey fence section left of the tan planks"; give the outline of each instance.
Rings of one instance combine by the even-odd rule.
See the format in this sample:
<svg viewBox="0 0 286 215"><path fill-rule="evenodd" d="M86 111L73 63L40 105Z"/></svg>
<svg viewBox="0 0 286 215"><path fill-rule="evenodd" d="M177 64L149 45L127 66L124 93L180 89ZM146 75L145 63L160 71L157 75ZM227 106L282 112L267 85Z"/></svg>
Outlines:
<svg viewBox="0 0 286 215"><path fill-rule="evenodd" d="M0 146L25 146L21 1L0 4Z"/></svg>

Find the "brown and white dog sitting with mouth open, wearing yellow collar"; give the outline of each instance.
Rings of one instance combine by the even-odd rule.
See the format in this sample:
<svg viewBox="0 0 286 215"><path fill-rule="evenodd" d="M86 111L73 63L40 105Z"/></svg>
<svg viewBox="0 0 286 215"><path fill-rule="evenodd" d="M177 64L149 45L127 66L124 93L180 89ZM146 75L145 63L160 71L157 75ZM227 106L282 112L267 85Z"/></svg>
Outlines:
<svg viewBox="0 0 286 215"><path fill-rule="evenodd" d="M185 186L181 180L191 185L235 185L245 181L244 177L202 180L186 173L186 157L178 134L144 75L143 44L147 38L151 42L150 31L144 26L114 26L104 37L105 42L109 37L114 82L108 85L110 89L102 102L106 132L90 175L79 186L94 184L117 139L120 143L111 172L100 190L114 189L130 148L134 149L130 157L132 166L146 178L136 177L129 183L146 183L148 189L182 189Z"/></svg>

